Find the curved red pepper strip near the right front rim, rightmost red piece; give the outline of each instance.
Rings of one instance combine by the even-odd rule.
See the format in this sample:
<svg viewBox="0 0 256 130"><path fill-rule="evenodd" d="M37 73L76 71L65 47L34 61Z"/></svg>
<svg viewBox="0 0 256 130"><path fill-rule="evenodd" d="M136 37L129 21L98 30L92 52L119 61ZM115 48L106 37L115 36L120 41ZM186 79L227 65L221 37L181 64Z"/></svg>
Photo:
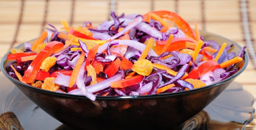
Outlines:
<svg viewBox="0 0 256 130"><path fill-rule="evenodd" d="M191 72L189 72L186 79L188 78L197 79L198 77L200 77L201 74L204 74L209 71L213 71L216 68L220 68L220 64L218 64L218 62L213 60L206 61L203 64L199 65L197 68L193 69Z"/></svg>

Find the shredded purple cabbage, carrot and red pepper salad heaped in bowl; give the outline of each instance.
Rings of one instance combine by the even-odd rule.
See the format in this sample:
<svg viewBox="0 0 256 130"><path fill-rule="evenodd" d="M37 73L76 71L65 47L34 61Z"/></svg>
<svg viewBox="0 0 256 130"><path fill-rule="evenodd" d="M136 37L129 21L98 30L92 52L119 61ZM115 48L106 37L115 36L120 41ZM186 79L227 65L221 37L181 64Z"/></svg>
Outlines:
<svg viewBox="0 0 256 130"><path fill-rule="evenodd" d="M6 71L48 91L96 96L133 96L187 91L230 77L246 47L204 40L174 12L111 12L112 20L93 26L49 25L24 49L12 48Z"/></svg>

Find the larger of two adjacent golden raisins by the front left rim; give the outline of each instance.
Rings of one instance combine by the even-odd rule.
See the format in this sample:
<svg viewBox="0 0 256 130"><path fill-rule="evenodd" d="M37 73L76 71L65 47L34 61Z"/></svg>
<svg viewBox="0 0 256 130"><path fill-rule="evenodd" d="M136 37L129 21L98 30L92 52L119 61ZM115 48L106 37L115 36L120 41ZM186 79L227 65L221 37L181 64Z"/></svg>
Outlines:
<svg viewBox="0 0 256 130"><path fill-rule="evenodd" d="M44 83L42 84L42 89L49 90L49 91L56 91L60 87L60 85L55 84L56 78L54 77L47 77L44 79Z"/></svg>

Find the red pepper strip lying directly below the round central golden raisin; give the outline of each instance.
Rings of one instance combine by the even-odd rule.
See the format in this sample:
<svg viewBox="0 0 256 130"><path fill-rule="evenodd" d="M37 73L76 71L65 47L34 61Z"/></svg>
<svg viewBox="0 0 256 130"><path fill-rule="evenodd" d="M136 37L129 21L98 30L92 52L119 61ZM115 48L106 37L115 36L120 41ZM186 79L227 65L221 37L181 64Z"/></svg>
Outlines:
<svg viewBox="0 0 256 130"><path fill-rule="evenodd" d="M125 88L131 85L138 84L144 78L143 75L135 75L131 78L121 79L119 81L111 82L110 87L112 88Z"/></svg>

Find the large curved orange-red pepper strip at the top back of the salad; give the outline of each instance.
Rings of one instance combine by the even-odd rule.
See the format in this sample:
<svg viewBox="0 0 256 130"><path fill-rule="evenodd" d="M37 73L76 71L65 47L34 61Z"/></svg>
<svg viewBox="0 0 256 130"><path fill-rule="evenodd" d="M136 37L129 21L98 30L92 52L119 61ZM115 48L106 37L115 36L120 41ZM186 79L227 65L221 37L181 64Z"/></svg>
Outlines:
<svg viewBox="0 0 256 130"><path fill-rule="evenodd" d="M157 14L158 16L168 19L172 21L175 25L177 25L186 35L189 37L195 38L195 33L189 26L188 22L186 22L181 16L179 16L175 12L170 12L166 10L153 11L152 13Z"/></svg>

